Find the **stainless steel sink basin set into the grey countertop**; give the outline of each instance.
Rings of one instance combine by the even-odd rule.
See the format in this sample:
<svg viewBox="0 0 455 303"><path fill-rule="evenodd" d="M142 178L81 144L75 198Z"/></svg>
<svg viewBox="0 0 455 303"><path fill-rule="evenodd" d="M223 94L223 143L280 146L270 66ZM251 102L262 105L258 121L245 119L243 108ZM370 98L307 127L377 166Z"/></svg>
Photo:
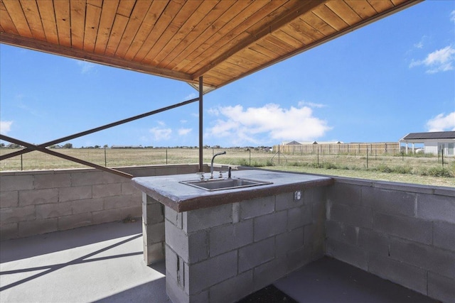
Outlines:
<svg viewBox="0 0 455 303"><path fill-rule="evenodd" d="M272 182L264 182L258 180L250 179L208 179L208 180L191 180L191 181L181 181L179 183L187 184L192 187L197 187L200 189L205 189L208 191L221 190L221 189L236 189L243 187L252 187L265 184L272 184Z"/></svg>

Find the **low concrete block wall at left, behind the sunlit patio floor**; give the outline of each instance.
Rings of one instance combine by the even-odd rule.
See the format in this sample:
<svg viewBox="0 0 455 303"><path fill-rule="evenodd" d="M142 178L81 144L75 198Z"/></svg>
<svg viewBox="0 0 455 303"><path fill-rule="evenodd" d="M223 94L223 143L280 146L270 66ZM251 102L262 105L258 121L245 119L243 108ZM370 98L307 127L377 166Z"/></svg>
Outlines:
<svg viewBox="0 0 455 303"><path fill-rule="evenodd" d="M198 165L121 167L135 177L191 173ZM141 216L131 180L95 169L0 173L0 239Z"/></svg>

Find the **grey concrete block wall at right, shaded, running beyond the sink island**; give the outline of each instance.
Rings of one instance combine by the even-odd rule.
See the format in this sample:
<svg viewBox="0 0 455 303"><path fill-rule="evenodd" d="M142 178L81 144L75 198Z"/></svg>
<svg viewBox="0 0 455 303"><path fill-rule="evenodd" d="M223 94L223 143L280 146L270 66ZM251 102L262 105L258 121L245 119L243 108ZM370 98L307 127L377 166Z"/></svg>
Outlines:
<svg viewBox="0 0 455 303"><path fill-rule="evenodd" d="M326 254L455 302L455 188L335 178Z"/></svg>

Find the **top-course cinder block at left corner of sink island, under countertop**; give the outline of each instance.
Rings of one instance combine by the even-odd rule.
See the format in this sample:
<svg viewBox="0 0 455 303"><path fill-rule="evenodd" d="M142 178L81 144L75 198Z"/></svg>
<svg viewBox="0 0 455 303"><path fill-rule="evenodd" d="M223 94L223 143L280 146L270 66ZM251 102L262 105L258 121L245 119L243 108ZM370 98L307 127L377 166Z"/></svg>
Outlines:
<svg viewBox="0 0 455 303"><path fill-rule="evenodd" d="M187 233L232 222L232 204L185 211L182 214L183 230Z"/></svg>

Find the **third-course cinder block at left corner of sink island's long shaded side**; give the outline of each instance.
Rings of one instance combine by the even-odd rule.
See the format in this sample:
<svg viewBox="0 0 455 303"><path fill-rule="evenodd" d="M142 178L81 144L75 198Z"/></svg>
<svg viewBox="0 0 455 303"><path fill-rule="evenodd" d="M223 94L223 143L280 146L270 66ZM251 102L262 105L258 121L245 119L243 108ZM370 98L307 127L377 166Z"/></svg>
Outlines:
<svg viewBox="0 0 455 303"><path fill-rule="evenodd" d="M237 251L217 255L188 268L189 294L197 294L201 290L218 284L237 275Z"/></svg>

